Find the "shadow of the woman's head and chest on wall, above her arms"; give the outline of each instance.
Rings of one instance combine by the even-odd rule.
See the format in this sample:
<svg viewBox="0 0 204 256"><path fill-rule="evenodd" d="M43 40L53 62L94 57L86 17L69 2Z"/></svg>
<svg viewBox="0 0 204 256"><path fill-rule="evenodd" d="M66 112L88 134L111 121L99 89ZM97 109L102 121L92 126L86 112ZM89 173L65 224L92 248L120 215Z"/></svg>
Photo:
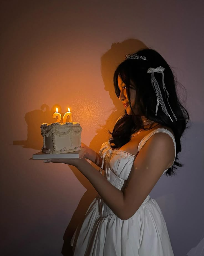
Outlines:
<svg viewBox="0 0 204 256"><path fill-rule="evenodd" d="M111 49L101 57L101 75L104 82L104 89L109 92L109 96L115 107L113 108L111 115L106 120L106 124L101 125L100 129L96 131L96 136L90 142L90 147L96 152L99 152L101 145L108 141L110 137L108 129L112 132L116 120L124 114L123 104L115 94L113 74L117 66L124 61L126 54L134 53L141 48L147 48L147 46L139 40L128 39L122 43L113 43L111 45Z"/></svg>

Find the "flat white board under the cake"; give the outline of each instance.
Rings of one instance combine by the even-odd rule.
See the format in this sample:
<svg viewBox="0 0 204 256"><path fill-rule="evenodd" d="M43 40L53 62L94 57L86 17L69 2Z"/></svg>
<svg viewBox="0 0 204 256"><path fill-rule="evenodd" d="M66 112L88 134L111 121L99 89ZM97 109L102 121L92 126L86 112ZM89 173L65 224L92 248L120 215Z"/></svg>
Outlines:
<svg viewBox="0 0 204 256"><path fill-rule="evenodd" d="M79 151L73 151L62 154L47 154L42 151L33 154L29 160L50 160L50 159L81 159L85 155L86 151L82 148Z"/></svg>

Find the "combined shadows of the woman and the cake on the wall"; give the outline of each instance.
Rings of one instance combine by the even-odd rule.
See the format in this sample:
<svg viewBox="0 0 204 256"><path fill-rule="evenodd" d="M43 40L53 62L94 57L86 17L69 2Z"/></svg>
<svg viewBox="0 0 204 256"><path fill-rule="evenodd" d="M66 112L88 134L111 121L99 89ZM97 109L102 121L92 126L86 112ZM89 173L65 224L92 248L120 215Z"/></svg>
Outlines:
<svg viewBox="0 0 204 256"><path fill-rule="evenodd" d="M116 67L124 60L126 54L133 53L140 50L141 48L146 48L146 45L144 45L144 43L139 40L128 39L122 43L113 43L111 49L109 49L101 57L101 75L104 82L104 89L109 92L109 96L115 107L113 108L111 115L106 120L106 124L100 125L100 128L96 131L97 135L90 142L90 147L96 152L99 152L101 145L105 141L108 141L110 136L108 130L113 131L116 120L124 113L123 105L119 101L114 90L114 71ZM103 104L103 102L101 102L101 104ZM60 112L63 117L64 113L61 112L61 107L58 104L54 105L51 109L48 105L43 104L41 106L41 110L33 110L26 113L25 121L27 123L27 140L13 141L13 145L21 145L25 148L41 150L43 145L43 138L40 132L40 125L42 123L53 123L54 119L52 118L52 115L54 112L56 112L56 107L58 107L58 112ZM99 169L99 167L95 164L93 164L93 166L96 169ZM70 240L72 239L72 236L77 229L75 241L73 244L74 249L81 225L85 218L86 211L88 210L90 203L98 194L94 187L90 186L90 182L77 170L77 168L70 166L70 169L73 171L80 183L87 189L87 191L82 196L77 209L75 210L72 219L70 220L68 227L65 230L65 234L63 236L64 243L62 248L63 255L72 255L73 252L70 245Z"/></svg>

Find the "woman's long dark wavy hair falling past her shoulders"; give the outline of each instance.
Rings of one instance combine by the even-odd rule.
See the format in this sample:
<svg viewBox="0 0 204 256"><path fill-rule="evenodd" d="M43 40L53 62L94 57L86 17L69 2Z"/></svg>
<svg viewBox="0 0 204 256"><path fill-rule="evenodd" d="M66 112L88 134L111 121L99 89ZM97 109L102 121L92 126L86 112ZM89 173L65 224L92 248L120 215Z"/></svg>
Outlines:
<svg viewBox="0 0 204 256"><path fill-rule="evenodd" d="M174 132L176 141L176 158L172 168L166 171L167 176L175 175L175 166L183 167L183 164L179 163L178 152L181 151L181 137L187 127L189 121L188 111L181 104L178 95L176 85L178 84L175 75L173 74L171 68L164 60L164 58L153 49L142 49L136 52L140 56L145 56L147 60L139 59L127 59L124 60L115 70L113 82L115 87L115 93L119 98L120 90L118 87L118 76L126 85L127 98L130 102L130 88L136 90L135 104L131 106L132 115L128 115L126 110L124 115L116 122L113 132L108 131L112 136L109 138L112 149L120 148L130 140L131 134L139 131L140 129L149 130L152 129L152 125L149 128L144 128L141 116L145 116L152 122L158 123L163 126L170 127ZM165 104L169 115L171 116L173 122L167 116L160 104L157 111L157 116L155 116L155 109L157 104L157 97L154 88L151 84L151 74L147 73L147 70L157 67L164 68L164 83L167 91L169 92L168 102L174 112L177 120L175 120L169 104ZM156 80L159 83L160 88L162 88L162 75L161 73L154 73ZM164 99L164 90L161 89L162 97ZM167 98L167 97L166 97ZM155 126L154 126L155 127Z"/></svg>

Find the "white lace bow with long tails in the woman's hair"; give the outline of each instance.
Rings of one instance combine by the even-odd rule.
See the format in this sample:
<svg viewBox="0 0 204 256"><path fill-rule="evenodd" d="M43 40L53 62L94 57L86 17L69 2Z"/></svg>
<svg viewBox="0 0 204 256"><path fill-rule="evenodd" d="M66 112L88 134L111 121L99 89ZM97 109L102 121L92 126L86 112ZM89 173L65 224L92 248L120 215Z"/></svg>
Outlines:
<svg viewBox="0 0 204 256"><path fill-rule="evenodd" d="M167 102L168 102L169 92L167 91L167 89L166 89L166 87L165 87L165 84L164 84L164 72L163 72L163 71L164 71L164 68L161 67L161 66L159 66L159 67L157 67L157 68L149 68L149 69L147 70L147 73L151 73L151 83L152 83L152 86L153 86L153 88L154 88L154 91L155 91L155 93L156 93L156 95L157 95L157 106L156 106L155 116L157 116L157 110L158 110L159 103L160 103L163 112L164 112L166 115L168 115L168 116L170 117L170 115L169 115L169 113L168 113L168 111L167 111L167 108L166 108L166 106L165 106L166 93L167 93L167 96L168 96L168 97L167 97ZM164 95L165 95L164 100L163 100L163 98L162 98L162 93L161 93L159 84L158 84L157 80L155 79L154 72L162 73L162 85L163 85ZM166 91L166 93L165 93L165 91ZM169 102L168 102L168 104L169 104ZM170 104L169 104L169 107L170 107ZM171 109L171 107L170 107L170 109ZM171 109L171 111L172 111L172 109ZM174 118L177 120L177 118L176 118L176 116L175 116L175 114L174 114L173 111L172 111L172 114L174 115ZM171 119L171 121L173 122L173 120L172 120L171 117L170 117L170 119Z"/></svg>

